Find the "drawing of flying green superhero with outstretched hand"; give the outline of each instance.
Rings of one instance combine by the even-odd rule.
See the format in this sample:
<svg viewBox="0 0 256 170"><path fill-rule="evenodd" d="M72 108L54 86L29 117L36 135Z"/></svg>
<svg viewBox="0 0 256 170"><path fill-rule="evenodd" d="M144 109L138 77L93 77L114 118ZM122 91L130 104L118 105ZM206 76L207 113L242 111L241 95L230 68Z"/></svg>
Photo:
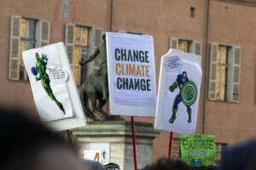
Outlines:
<svg viewBox="0 0 256 170"><path fill-rule="evenodd" d="M49 76L46 72L46 65L47 65L47 55L46 54L42 54L42 57L40 58L39 54L36 53L36 59L37 59L37 64L36 64L36 68L32 67L32 74L34 76L37 76L38 73L38 77L36 77L36 81L41 80L41 83L43 85L43 88L46 92L46 94L49 95L49 98L51 100L53 100L55 102L56 105L58 105L58 107L60 108L60 110L63 112L63 114L65 115L66 112L63 108L63 105L61 104L61 102L59 102L56 98L55 95L53 94L50 86L49 86Z"/></svg>

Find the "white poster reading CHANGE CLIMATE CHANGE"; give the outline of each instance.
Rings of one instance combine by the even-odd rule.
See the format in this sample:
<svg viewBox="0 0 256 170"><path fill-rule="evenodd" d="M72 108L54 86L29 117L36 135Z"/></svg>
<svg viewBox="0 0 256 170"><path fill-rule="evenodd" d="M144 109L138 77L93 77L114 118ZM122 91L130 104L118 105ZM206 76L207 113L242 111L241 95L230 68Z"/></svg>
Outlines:
<svg viewBox="0 0 256 170"><path fill-rule="evenodd" d="M108 32L107 53L111 115L154 116L153 37Z"/></svg>

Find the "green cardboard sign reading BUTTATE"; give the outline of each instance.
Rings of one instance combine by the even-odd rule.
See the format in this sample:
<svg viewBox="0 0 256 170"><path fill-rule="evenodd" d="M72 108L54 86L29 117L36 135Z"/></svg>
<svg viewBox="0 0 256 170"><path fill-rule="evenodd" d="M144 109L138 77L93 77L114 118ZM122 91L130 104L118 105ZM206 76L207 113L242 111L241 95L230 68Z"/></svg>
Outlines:
<svg viewBox="0 0 256 170"><path fill-rule="evenodd" d="M197 134L181 135L180 148L183 161L194 167L211 166L216 156L215 136Z"/></svg>

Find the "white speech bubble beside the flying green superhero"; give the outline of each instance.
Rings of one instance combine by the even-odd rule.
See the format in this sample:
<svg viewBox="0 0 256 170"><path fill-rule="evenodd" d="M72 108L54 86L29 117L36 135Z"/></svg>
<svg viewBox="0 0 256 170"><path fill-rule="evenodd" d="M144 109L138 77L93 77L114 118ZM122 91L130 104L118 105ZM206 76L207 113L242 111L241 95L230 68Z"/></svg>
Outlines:
<svg viewBox="0 0 256 170"><path fill-rule="evenodd" d="M49 68L48 68L49 69ZM68 72L61 67L49 69L49 79L55 83L64 83L68 80Z"/></svg>

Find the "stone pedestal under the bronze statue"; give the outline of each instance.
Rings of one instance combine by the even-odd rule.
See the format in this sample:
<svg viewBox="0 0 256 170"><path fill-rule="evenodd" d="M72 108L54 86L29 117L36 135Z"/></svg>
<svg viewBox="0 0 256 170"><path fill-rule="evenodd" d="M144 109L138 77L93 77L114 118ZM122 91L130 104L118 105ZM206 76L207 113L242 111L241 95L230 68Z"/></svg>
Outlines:
<svg viewBox="0 0 256 170"><path fill-rule="evenodd" d="M159 134L153 125L135 122L137 168L141 169L152 161L153 139ZM122 170L133 170L131 122L89 122L87 126L73 129L73 142L84 157L92 143L109 143L109 161L117 163Z"/></svg>

